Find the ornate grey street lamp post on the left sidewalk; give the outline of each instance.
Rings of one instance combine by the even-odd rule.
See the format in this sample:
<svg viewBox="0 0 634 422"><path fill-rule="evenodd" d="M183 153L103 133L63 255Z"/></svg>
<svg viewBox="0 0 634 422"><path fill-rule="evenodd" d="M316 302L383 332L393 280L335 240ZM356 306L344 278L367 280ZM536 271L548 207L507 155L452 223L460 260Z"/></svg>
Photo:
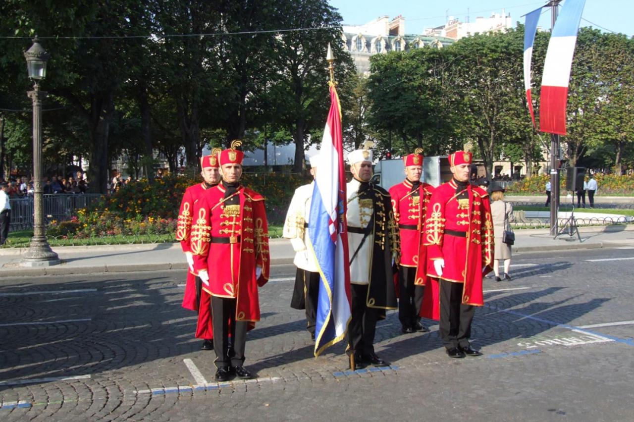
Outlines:
<svg viewBox="0 0 634 422"><path fill-rule="evenodd" d="M29 244L29 250L22 255L20 265L25 267L47 267L60 263L57 253L51 250L46 240L46 227L44 227L44 207L42 206L42 100L46 93L39 90L39 80L46 77L46 61L50 54L37 40L24 53L27 59L29 78L34 81L33 91L29 91L29 98L33 101L33 237Z"/></svg>

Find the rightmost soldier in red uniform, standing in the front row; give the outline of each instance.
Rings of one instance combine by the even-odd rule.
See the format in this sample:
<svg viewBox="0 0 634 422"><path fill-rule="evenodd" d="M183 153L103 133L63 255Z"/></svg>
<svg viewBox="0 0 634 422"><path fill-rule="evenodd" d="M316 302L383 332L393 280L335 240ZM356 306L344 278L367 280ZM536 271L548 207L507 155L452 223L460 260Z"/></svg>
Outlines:
<svg viewBox="0 0 634 422"><path fill-rule="evenodd" d="M476 306L482 306L482 277L493 267L493 221L488 193L469 183L472 154L449 156L453 179L436 188L425 221L427 275L423 316L440 319L450 357L479 356L469 343ZM423 265L419 265L422 269ZM431 287L431 288L429 288Z"/></svg>

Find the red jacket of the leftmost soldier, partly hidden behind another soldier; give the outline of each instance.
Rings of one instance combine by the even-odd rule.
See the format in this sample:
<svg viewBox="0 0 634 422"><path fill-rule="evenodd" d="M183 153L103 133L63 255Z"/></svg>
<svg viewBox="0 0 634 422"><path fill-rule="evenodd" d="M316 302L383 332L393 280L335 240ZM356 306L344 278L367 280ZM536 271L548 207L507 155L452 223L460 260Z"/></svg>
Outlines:
<svg viewBox="0 0 634 422"><path fill-rule="evenodd" d="M176 240L181 242L183 252L191 252L190 236L191 236L191 213L194 204L207 191L204 183L197 183L185 189L181 208L178 212L178 220L176 222ZM185 309L198 310L196 301L196 281L195 276L187 271L187 281L185 283L185 293L183 295L183 304Z"/></svg>

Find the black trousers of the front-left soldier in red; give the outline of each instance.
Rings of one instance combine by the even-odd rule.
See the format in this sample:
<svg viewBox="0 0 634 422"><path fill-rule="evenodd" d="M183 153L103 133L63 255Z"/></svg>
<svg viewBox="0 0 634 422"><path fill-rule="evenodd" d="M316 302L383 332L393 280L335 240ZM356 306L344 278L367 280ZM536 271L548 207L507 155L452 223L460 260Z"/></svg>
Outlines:
<svg viewBox="0 0 634 422"><path fill-rule="evenodd" d="M247 321L236 322L236 299L212 296L211 312L214 320L216 367L242 365L248 323ZM231 347L229 347L229 333L231 333Z"/></svg>

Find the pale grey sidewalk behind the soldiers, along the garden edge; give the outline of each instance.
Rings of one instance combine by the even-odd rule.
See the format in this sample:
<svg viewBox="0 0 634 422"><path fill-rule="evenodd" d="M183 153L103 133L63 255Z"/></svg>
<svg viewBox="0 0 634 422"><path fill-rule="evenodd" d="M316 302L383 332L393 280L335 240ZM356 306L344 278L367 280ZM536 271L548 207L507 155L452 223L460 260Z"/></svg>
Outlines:
<svg viewBox="0 0 634 422"><path fill-rule="evenodd" d="M634 225L579 227L581 242L567 234L553 239L548 229L515 231L514 253L586 248L634 247ZM292 264L290 241L271 239L271 264ZM61 264L53 267L20 267L25 249L0 250L0 279L20 276L92 274L98 272L164 271L186 269L179 243L155 245L64 246L54 248Z"/></svg>

